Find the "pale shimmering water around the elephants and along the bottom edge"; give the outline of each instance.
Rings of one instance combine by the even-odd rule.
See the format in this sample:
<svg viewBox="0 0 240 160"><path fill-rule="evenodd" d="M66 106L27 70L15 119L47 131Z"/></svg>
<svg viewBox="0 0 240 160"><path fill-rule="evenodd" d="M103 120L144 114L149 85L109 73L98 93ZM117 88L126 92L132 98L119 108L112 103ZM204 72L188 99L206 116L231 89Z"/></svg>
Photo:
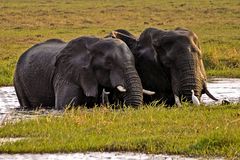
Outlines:
<svg viewBox="0 0 240 160"><path fill-rule="evenodd" d="M231 103L240 102L240 79L238 78L214 78L210 79L207 83L209 91L216 98L219 99L218 102L213 101L207 95L203 95L201 102L205 104L221 103L221 101L227 98ZM38 111L38 112L24 112L15 111L14 109L19 107L19 103L16 97L16 93L13 87L0 87L0 125L5 123L7 120L18 120L21 118L32 118L34 116L42 116L45 114L58 113L54 110L48 111ZM6 139L0 139L1 143L8 141ZM10 139L9 141L16 141L15 139ZM169 155L149 155L140 153L121 153L121 152L111 152L111 153L98 153L98 152L88 152L88 153L72 153L72 154L1 154L1 159L164 159L164 160L181 160L181 159L197 159L197 158L186 158L181 156L169 156ZM219 159L219 158L217 158Z"/></svg>

